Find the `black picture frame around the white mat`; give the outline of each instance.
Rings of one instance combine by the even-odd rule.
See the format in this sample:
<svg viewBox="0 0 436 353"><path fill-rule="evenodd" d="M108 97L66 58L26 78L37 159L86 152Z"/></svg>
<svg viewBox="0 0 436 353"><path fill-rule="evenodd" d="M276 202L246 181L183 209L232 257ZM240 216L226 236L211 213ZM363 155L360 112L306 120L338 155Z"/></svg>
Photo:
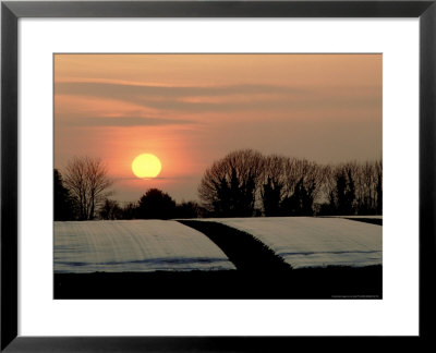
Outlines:
<svg viewBox="0 0 436 353"><path fill-rule="evenodd" d="M404 338L17 337L17 21L21 17L419 17L420 333ZM436 0L414 1L2 1L1 346L7 352L281 352L291 344L415 344L435 333ZM400 309L400 308L399 308ZM347 340L338 342L338 340ZM354 340L355 342L350 342ZM383 342L385 341L385 342ZM387 342L389 341L389 342ZM359 342L359 343L358 343ZM426 342L428 343L428 342ZM370 345L371 344L371 345ZM431 345L432 346L432 345Z"/></svg>

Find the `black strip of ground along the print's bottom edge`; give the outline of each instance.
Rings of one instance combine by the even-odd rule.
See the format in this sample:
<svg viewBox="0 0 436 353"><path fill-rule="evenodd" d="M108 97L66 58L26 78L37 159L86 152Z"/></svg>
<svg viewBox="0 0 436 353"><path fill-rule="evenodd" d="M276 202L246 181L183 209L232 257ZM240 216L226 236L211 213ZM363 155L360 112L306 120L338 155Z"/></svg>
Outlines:
<svg viewBox="0 0 436 353"><path fill-rule="evenodd" d="M292 271L56 273L55 299L382 299L382 266Z"/></svg>

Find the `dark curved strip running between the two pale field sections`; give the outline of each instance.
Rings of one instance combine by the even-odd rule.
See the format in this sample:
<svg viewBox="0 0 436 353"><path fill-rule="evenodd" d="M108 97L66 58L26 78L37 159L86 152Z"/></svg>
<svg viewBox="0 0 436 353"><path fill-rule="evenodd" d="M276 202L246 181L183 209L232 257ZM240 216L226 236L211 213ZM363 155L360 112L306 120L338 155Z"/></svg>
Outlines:
<svg viewBox="0 0 436 353"><path fill-rule="evenodd" d="M234 228L207 221L180 220L217 244L230 261L242 271L283 271L291 270L281 257L253 235Z"/></svg>

